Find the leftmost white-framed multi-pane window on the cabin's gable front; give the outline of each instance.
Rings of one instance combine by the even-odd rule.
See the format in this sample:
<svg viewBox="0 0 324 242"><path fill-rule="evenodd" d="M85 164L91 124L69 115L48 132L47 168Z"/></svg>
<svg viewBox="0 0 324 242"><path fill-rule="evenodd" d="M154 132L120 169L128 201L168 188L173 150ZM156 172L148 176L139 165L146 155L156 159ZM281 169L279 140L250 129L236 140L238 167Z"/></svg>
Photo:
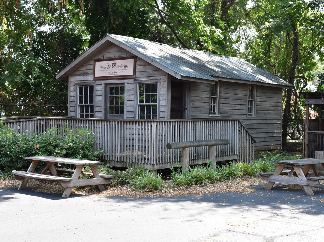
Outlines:
<svg viewBox="0 0 324 242"><path fill-rule="evenodd" d="M93 118L93 86L78 86L78 116Z"/></svg>

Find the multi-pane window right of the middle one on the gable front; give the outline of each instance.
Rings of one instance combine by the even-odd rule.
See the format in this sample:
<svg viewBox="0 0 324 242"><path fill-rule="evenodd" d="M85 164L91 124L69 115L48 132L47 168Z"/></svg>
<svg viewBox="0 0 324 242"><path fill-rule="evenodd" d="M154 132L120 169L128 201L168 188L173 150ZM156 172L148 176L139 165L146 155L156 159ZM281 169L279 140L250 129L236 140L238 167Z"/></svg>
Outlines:
<svg viewBox="0 0 324 242"><path fill-rule="evenodd" d="M157 83L138 85L139 119L157 119Z"/></svg>

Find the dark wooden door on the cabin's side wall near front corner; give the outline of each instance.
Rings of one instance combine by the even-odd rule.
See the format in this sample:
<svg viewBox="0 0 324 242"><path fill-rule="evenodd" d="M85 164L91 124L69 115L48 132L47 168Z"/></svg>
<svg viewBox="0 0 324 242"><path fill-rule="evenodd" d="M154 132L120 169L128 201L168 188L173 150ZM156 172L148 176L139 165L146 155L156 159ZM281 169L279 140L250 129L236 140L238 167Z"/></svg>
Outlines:
<svg viewBox="0 0 324 242"><path fill-rule="evenodd" d="M171 82L170 119L185 119L187 82Z"/></svg>

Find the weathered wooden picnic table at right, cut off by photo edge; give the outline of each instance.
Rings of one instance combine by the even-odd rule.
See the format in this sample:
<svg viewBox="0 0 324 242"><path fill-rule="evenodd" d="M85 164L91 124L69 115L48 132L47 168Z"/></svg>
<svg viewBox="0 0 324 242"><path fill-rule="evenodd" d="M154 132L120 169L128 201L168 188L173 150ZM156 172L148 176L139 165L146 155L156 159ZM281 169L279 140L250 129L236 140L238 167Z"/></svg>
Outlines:
<svg viewBox="0 0 324 242"><path fill-rule="evenodd" d="M283 182L303 185L307 195L314 195L311 186L315 186L319 180L324 180L324 173L316 169L317 164L324 167L323 159L274 160L273 162L278 165L274 172L260 173L260 178L268 182L265 190L271 190L275 182ZM286 166L289 167L288 170L284 170ZM310 172L311 168L312 172Z"/></svg>

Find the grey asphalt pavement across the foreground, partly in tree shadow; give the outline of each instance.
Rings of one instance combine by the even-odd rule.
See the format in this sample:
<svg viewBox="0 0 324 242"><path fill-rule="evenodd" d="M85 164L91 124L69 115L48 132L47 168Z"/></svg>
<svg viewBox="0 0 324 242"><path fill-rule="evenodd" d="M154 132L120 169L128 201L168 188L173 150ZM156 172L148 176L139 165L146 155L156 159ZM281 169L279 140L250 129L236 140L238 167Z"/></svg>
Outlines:
<svg viewBox="0 0 324 242"><path fill-rule="evenodd" d="M318 186L324 188L323 186ZM324 241L324 190L98 197L0 189L1 241Z"/></svg>

